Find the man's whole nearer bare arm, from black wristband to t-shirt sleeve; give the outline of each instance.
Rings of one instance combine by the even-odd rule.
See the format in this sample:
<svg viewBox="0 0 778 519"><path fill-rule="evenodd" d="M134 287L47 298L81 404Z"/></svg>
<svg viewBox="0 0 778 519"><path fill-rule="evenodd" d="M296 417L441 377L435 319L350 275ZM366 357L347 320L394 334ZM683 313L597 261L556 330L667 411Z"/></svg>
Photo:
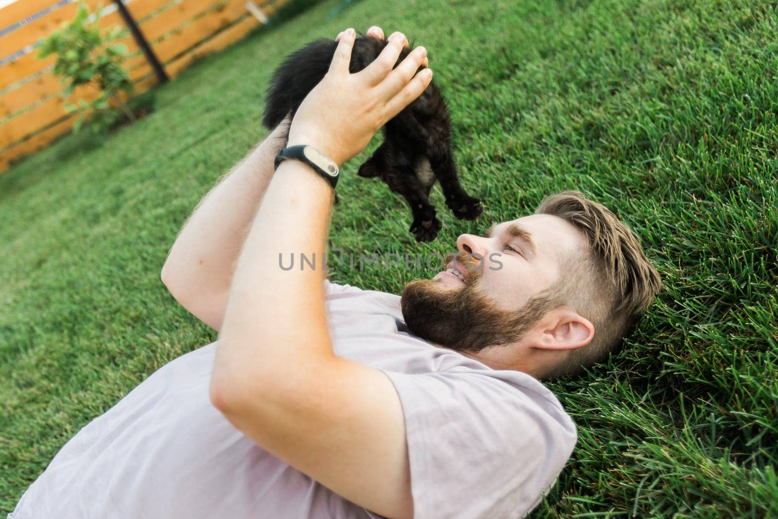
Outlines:
<svg viewBox="0 0 778 519"><path fill-rule="evenodd" d="M386 517L410 517L401 404L379 370L335 356L324 309L332 188L310 167L281 164L230 291L210 398L260 447L335 493ZM316 268L279 266L279 252Z"/></svg>

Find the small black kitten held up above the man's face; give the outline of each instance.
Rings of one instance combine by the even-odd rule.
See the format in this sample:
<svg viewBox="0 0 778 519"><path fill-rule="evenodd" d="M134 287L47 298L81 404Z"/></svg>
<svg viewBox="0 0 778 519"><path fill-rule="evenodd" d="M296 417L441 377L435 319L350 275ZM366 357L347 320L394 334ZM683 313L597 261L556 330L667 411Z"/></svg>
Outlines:
<svg viewBox="0 0 778 519"><path fill-rule="evenodd" d="M359 72L384 50L387 40L358 37L349 70ZM275 128L327 73L338 43L316 40L290 54L276 69L268 89L268 104L262 124ZM397 63L412 49L406 47ZM418 241L432 241L440 230L429 191L440 181L446 205L457 219L475 219L481 214L478 198L464 192L451 155L451 122L446 102L430 82L424 93L384 126L384 142L361 167L360 177L381 177L395 193L405 197L413 212L411 233Z"/></svg>

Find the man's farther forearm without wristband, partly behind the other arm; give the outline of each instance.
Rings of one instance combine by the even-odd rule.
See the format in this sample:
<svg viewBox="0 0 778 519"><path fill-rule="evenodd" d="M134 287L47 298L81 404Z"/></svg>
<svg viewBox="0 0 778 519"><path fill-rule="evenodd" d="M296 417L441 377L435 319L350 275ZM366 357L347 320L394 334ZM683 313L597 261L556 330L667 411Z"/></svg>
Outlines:
<svg viewBox="0 0 778 519"><path fill-rule="evenodd" d="M180 231L162 270L170 293L196 317L219 330L236 261L268 189L277 128L241 160L198 204Z"/></svg>

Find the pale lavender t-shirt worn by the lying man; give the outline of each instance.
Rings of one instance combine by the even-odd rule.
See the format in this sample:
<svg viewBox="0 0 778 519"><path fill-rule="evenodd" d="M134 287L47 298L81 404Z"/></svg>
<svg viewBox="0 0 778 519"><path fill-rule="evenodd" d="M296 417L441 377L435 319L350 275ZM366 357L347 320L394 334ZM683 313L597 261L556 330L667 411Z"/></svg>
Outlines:
<svg viewBox="0 0 778 519"><path fill-rule="evenodd" d="M548 388L410 335L399 296L324 282L338 356L384 371L405 416L414 517L520 517L576 429ZM209 400L213 342L167 363L62 447L9 515L380 517L236 430Z"/></svg>

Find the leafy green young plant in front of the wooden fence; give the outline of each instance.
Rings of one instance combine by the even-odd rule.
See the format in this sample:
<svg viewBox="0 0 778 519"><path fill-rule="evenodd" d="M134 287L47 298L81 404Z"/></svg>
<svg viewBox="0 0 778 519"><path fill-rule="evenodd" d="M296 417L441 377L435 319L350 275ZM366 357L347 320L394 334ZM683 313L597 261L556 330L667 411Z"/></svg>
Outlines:
<svg viewBox="0 0 778 519"><path fill-rule="evenodd" d="M129 75L121 66L127 46L114 43L126 36L127 30L97 26L102 9L102 5L98 6L94 16L90 16L89 9L80 0L72 22L51 33L38 52L39 58L56 54L54 75L65 83L65 97L79 86L93 86L100 92L91 101L79 99L78 104L65 103L68 112L82 113L73 127L74 133L79 132L89 114L93 132L106 131L119 115L115 107L121 108L128 119L135 122L132 111L121 99L121 93L131 94L133 91Z"/></svg>

